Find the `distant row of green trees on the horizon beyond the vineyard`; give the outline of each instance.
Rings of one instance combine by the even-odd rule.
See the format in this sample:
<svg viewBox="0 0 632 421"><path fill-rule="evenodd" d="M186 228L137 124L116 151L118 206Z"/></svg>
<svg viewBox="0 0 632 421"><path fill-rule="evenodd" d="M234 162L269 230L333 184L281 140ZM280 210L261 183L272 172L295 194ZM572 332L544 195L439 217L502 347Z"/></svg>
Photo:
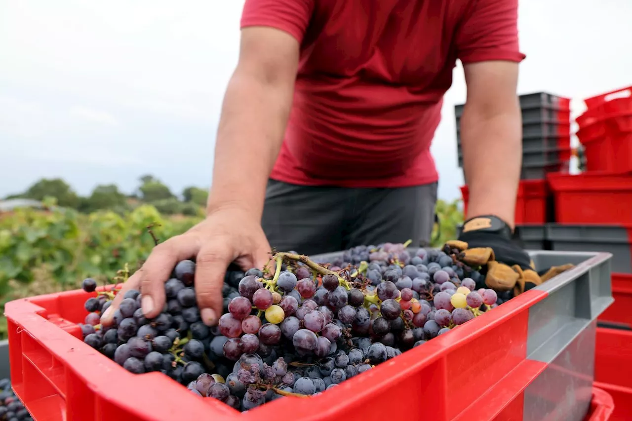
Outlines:
<svg viewBox="0 0 632 421"><path fill-rule="evenodd" d="M61 178L42 178L27 188L23 193L9 195L6 199L28 198L44 200L53 197L59 206L70 207L83 213L97 210L114 210L125 212L140 204L150 204L163 214L199 215L204 212L209 192L204 188L190 186L185 188L179 197L168 186L152 175L139 179L140 185L131 194L121 192L115 184L97 185L88 196L78 195L73 188Z"/></svg>

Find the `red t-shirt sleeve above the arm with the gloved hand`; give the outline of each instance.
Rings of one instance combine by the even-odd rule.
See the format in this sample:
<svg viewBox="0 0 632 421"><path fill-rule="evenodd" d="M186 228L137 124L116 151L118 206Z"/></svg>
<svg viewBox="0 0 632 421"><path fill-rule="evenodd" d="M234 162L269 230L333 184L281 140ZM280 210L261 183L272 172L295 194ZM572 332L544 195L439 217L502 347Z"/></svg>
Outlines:
<svg viewBox="0 0 632 421"><path fill-rule="evenodd" d="M520 63L518 0L471 0L456 34L461 63L506 60Z"/></svg>

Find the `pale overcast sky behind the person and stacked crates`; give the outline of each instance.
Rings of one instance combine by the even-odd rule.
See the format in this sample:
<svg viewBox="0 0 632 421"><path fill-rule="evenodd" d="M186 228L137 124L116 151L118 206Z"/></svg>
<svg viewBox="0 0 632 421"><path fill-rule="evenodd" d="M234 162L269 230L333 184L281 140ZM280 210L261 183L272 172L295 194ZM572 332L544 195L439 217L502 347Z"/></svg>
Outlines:
<svg viewBox="0 0 632 421"><path fill-rule="evenodd" d="M242 7L0 0L0 197L54 177L83 195L132 192L148 173L174 192L209 186ZM582 99L632 85L629 0L521 0L519 16L519 94L571 97L577 116ZM432 145L447 200L463 183L454 104L465 94L458 65Z"/></svg>

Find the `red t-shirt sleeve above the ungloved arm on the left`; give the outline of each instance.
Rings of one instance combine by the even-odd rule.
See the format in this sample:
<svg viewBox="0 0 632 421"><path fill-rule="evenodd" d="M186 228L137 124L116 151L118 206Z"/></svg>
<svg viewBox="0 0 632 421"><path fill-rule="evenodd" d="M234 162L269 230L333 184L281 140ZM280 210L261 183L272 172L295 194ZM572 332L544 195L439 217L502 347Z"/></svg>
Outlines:
<svg viewBox="0 0 632 421"><path fill-rule="evenodd" d="M241 28L265 26L288 32L299 44L310 23L314 0L246 0Z"/></svg>

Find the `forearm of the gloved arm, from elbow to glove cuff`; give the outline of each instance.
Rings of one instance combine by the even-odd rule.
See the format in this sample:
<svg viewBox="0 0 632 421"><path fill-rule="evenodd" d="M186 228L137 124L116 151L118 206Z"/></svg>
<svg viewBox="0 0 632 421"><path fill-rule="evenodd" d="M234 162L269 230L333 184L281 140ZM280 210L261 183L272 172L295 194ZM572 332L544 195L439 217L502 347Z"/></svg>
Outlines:
<svg viewBox="0 0 632 421"><path fill-rule="evenodd" d="M517 99L502 111L466 104L461 147L470 190L467 218L492 214L514 227L522 160L521 124Z"/></svg>

